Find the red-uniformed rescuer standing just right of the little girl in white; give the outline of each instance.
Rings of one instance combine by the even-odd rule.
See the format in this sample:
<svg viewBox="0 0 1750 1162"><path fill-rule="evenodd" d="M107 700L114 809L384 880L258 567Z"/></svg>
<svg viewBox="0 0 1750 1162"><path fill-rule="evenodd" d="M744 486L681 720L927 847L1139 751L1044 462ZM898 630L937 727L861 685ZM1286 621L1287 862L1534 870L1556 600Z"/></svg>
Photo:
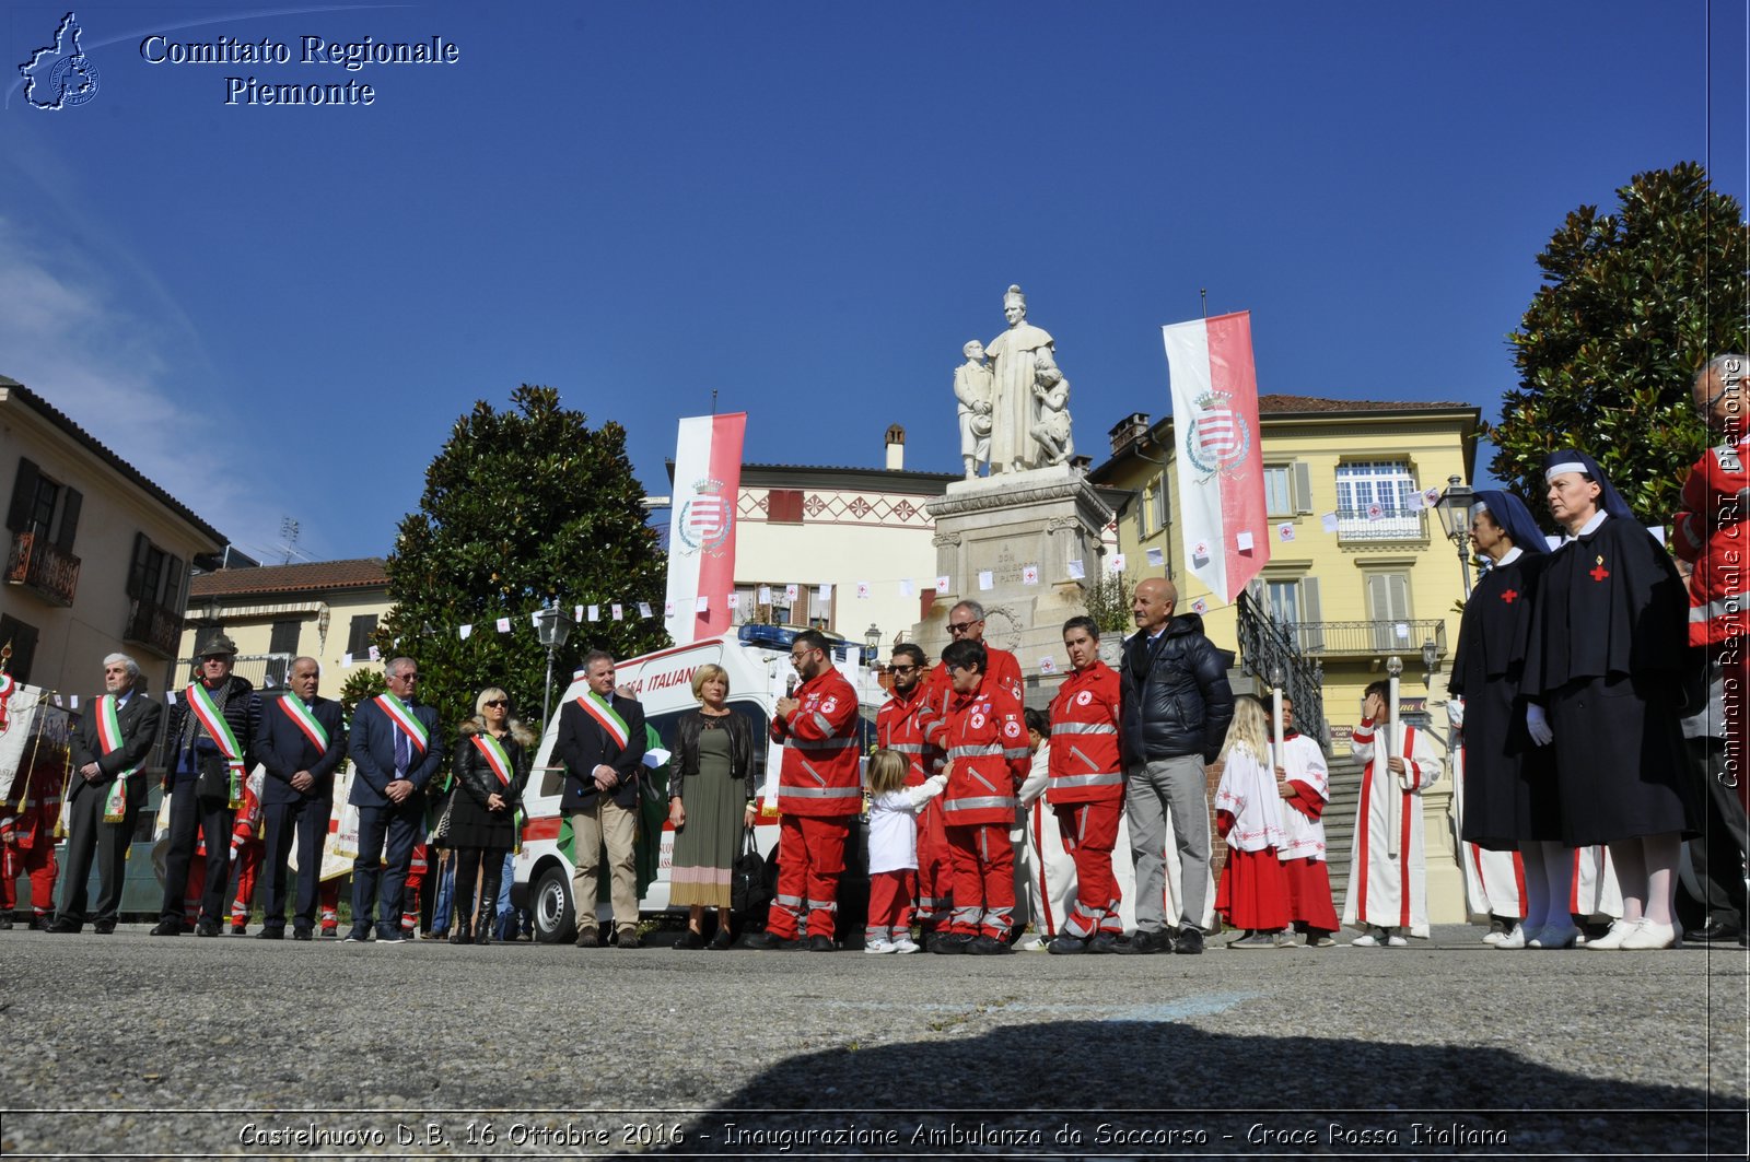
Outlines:
<svg viewBox="0 0 1750 1162"><path fill-rule="evenodd" d="M924 730L948 752L948 789L942 812L954 859L954 912L931 952L996 956L1010 952L1015 912L1015 789L1032 766L1020 700L985 670L980 642L957 640L942 651L952 696L943 718Z"/></svg>

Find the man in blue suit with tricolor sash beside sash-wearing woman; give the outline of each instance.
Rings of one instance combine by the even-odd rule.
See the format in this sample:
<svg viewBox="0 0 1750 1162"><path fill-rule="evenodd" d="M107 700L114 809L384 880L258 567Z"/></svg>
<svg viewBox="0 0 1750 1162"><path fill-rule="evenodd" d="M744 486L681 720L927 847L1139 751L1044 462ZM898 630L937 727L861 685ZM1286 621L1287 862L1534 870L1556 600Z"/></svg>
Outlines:
<svg viewBox="0 0 1750 1162"><path fill-rule="evenodd" d="M418 705L420 667L392 658L383 670L388 691L360 702L352 716L354 780L348 802L359 808L359 858L352 861L352 931L346 943L371 938L401 943L401 891L408 882L413 845L425 826L425 784L443 765L438 710ZM382 892L378 892L382 889Z"/></svg>

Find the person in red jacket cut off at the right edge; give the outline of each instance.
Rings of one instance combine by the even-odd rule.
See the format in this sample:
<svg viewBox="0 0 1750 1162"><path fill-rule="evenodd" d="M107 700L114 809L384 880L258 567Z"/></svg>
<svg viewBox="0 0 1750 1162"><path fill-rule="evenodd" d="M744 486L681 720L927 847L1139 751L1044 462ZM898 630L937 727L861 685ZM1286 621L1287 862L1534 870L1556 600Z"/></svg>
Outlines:
<svg viewBox="0 0 1750 1162"><path fill-rule="evenodd" d="M1745 943L1741 856L1750 842L1750 432L1745 392L1746 359L1718 355L1696 374L1696 408L1720 443L1701 453L1684 481L1673 551L1692 562L1689 578L1689 644L1706 651L1708 679L1724 723L1703 721L1692 749L1724 738L1724 754L1698 763L1708 784L1703 833L1690 842L1690 859L1708 905L1708 920L1684 933L1696 943ZM1685 733L1689 730L1685 728Z"/></svg>

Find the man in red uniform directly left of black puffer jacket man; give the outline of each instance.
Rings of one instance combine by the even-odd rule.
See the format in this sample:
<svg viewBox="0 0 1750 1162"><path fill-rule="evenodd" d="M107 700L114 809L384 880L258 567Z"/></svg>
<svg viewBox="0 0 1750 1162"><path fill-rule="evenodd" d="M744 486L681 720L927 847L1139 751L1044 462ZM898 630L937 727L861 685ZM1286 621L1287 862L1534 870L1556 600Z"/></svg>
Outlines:
<svg viewBox="0 0 1750 1162"><path fill-rule="evenodd" d="M1064 621L1069 677L1052 698L1052 780L1045 802L1057 814L1064 850L1076 861L1076 906L1048 952L1115 952L1118 880L1111 849L1124 814L1124 760L1118 754L1118 672L1099 660L1094 618Z"/></svg>

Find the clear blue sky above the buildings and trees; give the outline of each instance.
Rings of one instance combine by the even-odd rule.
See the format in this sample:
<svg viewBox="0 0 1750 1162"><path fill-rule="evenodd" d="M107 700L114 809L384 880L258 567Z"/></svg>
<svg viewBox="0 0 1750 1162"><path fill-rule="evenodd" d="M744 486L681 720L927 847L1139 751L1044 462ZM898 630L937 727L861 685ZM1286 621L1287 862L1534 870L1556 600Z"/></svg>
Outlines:
<svg viewBox="0 0 1750 1162"><path fill-rule="evenodd" d="M79 7L44 112L12 2L0 374L278 560L390 550L476 399L558 387L651 492L676 420L747 458L957 469L952 368L1012 282L1082 452L1169 410L1160 326L1251 310L1264 392L1494 418L1536 252L1636 172L1745 200L1745 5ZM284 42L154 65L142 40ZM455 65L299 63L301 37ZM1710 84L1712 68L1712 84ZM226 105L226 77L369 107ZM1480 467L1480 466L1479 466Z"/></svg>

